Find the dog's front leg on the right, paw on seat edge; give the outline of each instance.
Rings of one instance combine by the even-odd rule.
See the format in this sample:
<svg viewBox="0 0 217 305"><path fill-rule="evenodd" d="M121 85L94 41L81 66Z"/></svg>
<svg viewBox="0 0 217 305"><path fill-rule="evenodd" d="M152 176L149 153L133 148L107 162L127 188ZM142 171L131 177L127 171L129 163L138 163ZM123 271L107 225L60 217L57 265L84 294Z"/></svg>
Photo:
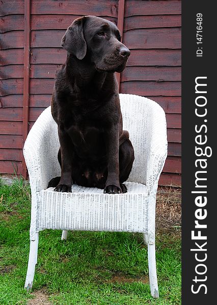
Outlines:
<svg viewBox="0 0 217 305"><path fill-rule="evenodd" d="M119 125L114 125L105 132L105 145L107 154L107 180L104 193L122 193L119 178Z"/></svg>

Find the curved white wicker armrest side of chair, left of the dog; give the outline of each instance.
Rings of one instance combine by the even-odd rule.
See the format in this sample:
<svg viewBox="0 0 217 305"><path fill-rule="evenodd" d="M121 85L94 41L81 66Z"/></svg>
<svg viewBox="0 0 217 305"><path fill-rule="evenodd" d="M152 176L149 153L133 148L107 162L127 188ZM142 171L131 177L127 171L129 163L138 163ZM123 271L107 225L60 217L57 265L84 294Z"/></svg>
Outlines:
<svg viewBox="0 0 217 305"><path fill-rule="evenodd" d="M60 175L57 159L59 140L57 124L52 118L50 107L37 118L23 147L23 156L28 168L31 188L36 191L47 188L48 181Z"/></svg>

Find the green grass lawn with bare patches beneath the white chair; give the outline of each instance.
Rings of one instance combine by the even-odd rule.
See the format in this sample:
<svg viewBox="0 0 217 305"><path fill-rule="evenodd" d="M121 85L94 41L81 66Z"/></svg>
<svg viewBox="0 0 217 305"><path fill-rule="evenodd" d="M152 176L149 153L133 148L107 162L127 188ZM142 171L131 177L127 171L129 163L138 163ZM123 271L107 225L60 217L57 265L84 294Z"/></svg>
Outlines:
<svg viewBox="0 0 217 305"><path fill-rule="evenodd" d="M30 188L17 180L0 186L0 304L26 304L23 289L29 257ZM173 230L173 231L171 231ZM156 234L159 299L148 283L147 247L142 234L121 232L40 232L33 293L50 304L181 304L180 232ZM178 233L177 233L178 232Z"/></svg>

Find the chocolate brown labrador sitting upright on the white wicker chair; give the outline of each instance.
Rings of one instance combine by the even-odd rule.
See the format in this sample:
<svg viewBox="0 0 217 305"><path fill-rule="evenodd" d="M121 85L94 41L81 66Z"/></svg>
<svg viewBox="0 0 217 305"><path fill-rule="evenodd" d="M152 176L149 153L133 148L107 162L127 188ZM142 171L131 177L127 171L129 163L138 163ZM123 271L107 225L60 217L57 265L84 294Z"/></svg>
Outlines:
<svg viewBox="0 0 217 305"><path fill-rule="evenodd" d="M51 113L58 124L61 177L48 187L71 192L73 183L127 192L134 160L122 114L115 72L121 72L130 55L120 42L117 26L108 20L84 16L72 22L62 38L66 63L57 73Z"/></svg>

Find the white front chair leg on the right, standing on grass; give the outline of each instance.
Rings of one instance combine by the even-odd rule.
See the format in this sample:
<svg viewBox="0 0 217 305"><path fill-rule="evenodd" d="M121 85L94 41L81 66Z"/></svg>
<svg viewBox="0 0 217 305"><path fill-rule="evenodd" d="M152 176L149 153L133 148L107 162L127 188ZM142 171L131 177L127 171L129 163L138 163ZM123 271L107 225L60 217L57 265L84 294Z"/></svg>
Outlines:
<svg viewBox="0 0 217 305"><path fill-rule="evenodd" d="M149 245L148 243L148 270L149 270L149 283L150 283L151 295L154 298L158 298L159 292L157 285L155 243L153 245Z"/></svg>

